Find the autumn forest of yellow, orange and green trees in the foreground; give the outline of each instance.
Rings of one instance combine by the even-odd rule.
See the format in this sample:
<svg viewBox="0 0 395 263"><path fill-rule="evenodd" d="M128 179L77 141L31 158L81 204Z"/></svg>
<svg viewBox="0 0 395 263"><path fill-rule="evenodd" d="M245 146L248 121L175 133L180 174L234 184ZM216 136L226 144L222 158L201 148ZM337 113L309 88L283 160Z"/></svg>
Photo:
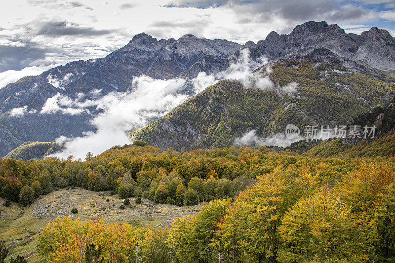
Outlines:
<svg viewBox="0 0 395 263"><path fill-rule="evenodd" d="M59 218L38 239L35 257L48 262L391 262L395 159L385 147L393 142L381 138L371 145L383 145L376 152L361 144L354 158L334 141L322 144L331 157L265 147L179 153L137 143L88 153L84 162L4 159L1 194L23 205L71 186L178 205L213 200L170 228Z"/></svg>

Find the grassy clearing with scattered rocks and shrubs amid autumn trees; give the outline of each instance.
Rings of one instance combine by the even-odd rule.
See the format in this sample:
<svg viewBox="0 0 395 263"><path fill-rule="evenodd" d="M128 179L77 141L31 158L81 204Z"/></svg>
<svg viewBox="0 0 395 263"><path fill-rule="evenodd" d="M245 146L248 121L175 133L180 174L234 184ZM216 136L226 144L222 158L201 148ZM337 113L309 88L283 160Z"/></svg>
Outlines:
<svg viewBox="0 0 395 263"><path fill-rule="evenodd" d="M110 198L110 202L106 202L107 197ZM80 188L51 192L36 199L33 204L24 209L14 202L11 202L9 207L5 207L2 205L4 200L0 198L0 242L4 242L6 246L11 242L18 242L17 246L11 248L10 255L33 255L29 258L29 262L38 262L34 250L40 228L58 216L70 215L73 218L79 217L81 219L93 219L101 216L106 223L127 222L131 225L162 224L166 226L178 217L196 214L202 205L200 203L195 206L178 207L155 204L145 199L141 204L136 204L135 198L129 198L129 200L130 205L122 210L118 207L122 204L123 199L119 199L118 194L102 199L98 192ZM73 207L79 210L78 214L71 213Z"/></svg>

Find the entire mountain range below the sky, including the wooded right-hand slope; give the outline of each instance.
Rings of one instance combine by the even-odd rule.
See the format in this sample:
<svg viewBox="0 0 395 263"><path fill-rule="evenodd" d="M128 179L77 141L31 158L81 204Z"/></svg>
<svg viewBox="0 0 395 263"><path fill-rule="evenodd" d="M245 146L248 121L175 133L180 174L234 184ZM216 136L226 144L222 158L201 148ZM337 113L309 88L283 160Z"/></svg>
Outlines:
<svg viewBox="0 0 395 263"><path fill-rule="evenodd" d="M104 58L73 61L1 88L0 155L28 141L95 132L91 121L103 108L94 101L132 92L137 76L194 79L203 72L221 79L246 54L255 68L243 79L225 75L237 80L220 80L196 96L194 82L185 82L177 92L189 100L130 136L164 150L193 150L230 146L254 131L250 141L260 144L273 141L287 123L347 123L395 96L395 39L376 27L356 35L306 22L289 35L272 32L244 45L142 33ZM57 108L49 108L55 99Z"/></svg>

